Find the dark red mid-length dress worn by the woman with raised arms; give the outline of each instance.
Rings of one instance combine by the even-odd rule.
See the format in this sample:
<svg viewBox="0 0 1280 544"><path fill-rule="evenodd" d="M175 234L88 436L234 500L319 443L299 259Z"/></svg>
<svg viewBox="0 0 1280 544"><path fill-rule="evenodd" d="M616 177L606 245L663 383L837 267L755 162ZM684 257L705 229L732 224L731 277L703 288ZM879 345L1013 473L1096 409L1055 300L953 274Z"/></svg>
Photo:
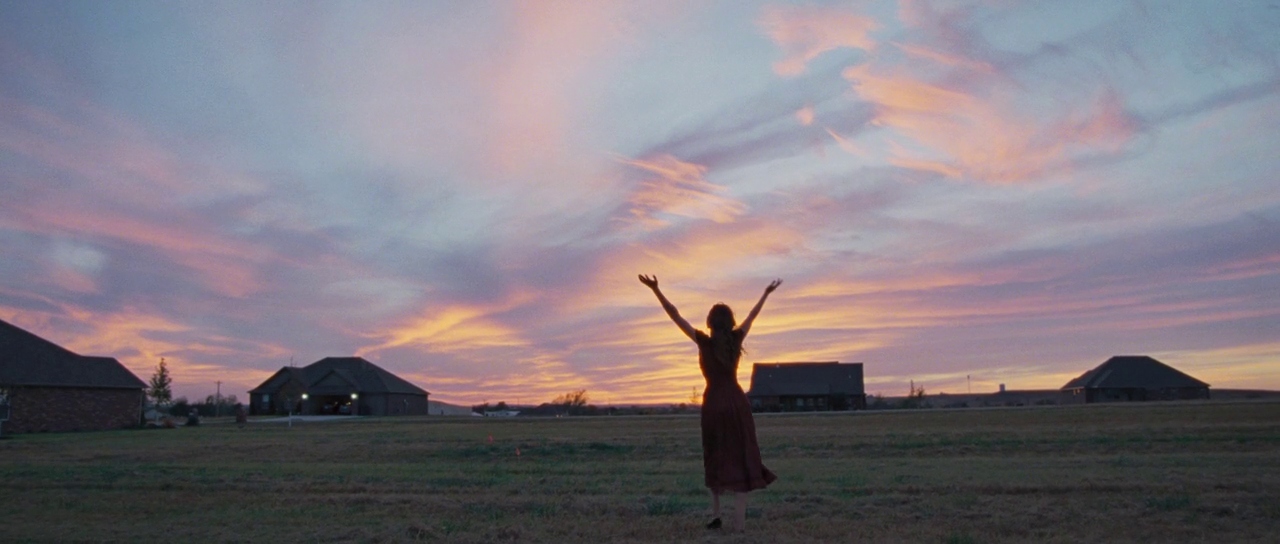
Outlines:
<svg viewBox="0 0 1280 544"><path fill-rule="evenodd" d="M742 334L735 330L733 334ZM755 439L751 403L737 384L737 362L716 360L712 339L701 330L698 342L698 366L707 379L703 392L703 468L707 486L713 492L746 493L764 489L778 476L760 461L760 444Z"/></svg>

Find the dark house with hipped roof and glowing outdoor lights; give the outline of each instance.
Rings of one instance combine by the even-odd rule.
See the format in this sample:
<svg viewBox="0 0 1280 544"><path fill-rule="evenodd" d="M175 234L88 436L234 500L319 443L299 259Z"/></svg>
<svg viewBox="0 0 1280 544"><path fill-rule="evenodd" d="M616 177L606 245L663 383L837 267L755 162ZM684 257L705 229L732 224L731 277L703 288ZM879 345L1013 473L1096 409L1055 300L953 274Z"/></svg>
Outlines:
<svg viewBox="0 0 1280 544"><path fill-rule="evenodd" d="M250 389L250 413L425 416L430 393L361 357L285 366Z"/></svg>

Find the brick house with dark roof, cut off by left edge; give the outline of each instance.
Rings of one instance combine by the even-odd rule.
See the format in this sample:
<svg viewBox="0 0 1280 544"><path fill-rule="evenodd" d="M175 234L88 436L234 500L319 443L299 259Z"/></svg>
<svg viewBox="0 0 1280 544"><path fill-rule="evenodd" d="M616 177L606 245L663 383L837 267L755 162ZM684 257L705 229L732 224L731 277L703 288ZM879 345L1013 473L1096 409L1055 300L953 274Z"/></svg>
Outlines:
<svg viewBox="0 0 1280 544"><path fill-rule="evenodd" d="M0 320L4 433L108 430L142 421L146 384L120 361L86 357Z"/></svg>

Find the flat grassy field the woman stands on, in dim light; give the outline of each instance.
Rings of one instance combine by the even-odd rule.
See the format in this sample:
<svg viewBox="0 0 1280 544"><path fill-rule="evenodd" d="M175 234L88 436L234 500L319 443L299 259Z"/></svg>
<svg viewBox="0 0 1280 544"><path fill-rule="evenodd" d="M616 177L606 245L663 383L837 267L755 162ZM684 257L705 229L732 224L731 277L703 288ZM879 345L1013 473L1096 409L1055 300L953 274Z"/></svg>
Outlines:
<svg viewBox="0 0 1280 544"><path fill-rule="evenodd" d="M756 425L780 480L751 494L742 535L703 529L696 417L433 417L9 438L0 540L1222 543L1280 527L1276 402Z"/></svg>

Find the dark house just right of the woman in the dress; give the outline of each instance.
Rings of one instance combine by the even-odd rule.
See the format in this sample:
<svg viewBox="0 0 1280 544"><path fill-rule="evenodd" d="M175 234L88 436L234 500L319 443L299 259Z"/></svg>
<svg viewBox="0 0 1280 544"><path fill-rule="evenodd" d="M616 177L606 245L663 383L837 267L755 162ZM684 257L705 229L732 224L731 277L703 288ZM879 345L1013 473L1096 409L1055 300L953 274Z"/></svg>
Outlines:
<svg viewBox="0 0 1280 544"><path fill-rule="evenodd" d="M867 408L860 362L758 362L746 396L756 412Z"/></svg>

